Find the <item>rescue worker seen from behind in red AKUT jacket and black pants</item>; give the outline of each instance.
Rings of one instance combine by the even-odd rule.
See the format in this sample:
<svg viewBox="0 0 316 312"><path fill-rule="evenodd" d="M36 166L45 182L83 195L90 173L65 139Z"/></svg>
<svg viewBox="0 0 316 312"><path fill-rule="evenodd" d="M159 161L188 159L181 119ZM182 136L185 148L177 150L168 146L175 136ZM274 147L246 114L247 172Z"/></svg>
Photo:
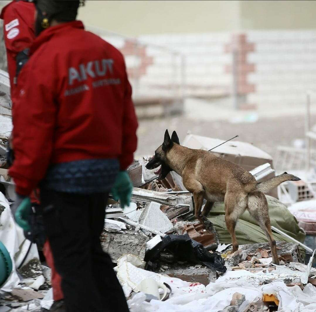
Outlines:
<svg viewBox="0 0 316 312"><path fill-rule="evenodd" d="M20 198L40 185L43 219L68 312L128 311L103 252L108 193L129 204L137 119L122 54L76 21L79 1L36 1L38 37L13 107ZM43 29L46 28L46 29Z"/></svg>

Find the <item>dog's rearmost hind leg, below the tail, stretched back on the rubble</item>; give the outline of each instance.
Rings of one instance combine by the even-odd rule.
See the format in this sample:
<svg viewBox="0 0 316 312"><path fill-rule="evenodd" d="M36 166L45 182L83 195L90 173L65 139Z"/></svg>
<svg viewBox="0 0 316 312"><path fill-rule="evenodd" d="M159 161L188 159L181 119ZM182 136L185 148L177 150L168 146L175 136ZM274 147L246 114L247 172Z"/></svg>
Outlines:
<svg viewBox="0 0 316 312"><path fill-rule="evenodd" d="M268 203L263 193L259 191L249 193L248 210L251 216L258 221L259 226L261 227L264 234L268 238L268 241L270 243L273 263L279 264L279 259L278 259L277 250L276 250L276 241L273 238L272 231L271 231Z"/></svg>

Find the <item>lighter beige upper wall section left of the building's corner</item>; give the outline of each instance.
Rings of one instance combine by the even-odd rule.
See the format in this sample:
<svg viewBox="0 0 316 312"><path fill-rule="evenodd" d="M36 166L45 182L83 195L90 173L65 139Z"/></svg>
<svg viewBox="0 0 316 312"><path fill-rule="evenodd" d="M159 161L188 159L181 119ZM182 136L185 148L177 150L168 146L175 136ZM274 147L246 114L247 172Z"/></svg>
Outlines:
<svg viewBox="0 0 316 312"><path fill-rule="evenodd" d="M201 33L239 27L239 1L86 1L79 18L87 25L137 36Z"/></svg>

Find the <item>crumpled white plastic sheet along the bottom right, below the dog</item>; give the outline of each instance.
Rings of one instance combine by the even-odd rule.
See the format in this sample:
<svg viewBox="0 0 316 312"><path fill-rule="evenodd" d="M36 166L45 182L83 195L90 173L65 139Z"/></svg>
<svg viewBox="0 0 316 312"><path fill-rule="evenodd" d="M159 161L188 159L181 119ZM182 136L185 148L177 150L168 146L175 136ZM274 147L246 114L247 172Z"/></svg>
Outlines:
<svg viewBox="0 0 316 312"><path fill-rule="evenodd" d="M144 271L141 268L138 269ZM138 271L140 275L145 274L141 271ZM279 312L316 311L316 288L312 284L307 284L303 291L298 286L287 287L282 281L259 284L261 279L266 278L267 275L271 278L271 274L265 272L254 274L246 270L229 271L218 278L215 283L204 287L201 284L182 285L181 281L177 281L178 279L174 279L176 285L172 285L170 278L163 280L162 275L156 274L154 275L156 278L167 283L169 281L172 286L170 299L165 302L151 300L147 303L145 295L138 293L132 296L128 303L131 312L219 312L230 305L236 292L244 294L249 302L257 301L262 298L264 293L272 293L280 301ZM280 272L277 272L276 275L280 275Z"/></svg>

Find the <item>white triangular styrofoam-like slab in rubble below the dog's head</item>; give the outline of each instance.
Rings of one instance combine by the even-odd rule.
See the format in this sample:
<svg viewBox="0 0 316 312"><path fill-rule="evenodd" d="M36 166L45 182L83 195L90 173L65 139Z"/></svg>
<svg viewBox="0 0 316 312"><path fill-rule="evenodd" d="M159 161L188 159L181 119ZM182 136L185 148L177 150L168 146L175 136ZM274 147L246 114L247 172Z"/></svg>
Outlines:
<svg viewBox="0 0 316 312"><path fill-rule="evenodd" d="M146 207L141 216L139 217L139 223L148 226L151 229L155 229L162 233L173 228L173 224L168 217L160 210L160 204L151 202Z"/></svg>

